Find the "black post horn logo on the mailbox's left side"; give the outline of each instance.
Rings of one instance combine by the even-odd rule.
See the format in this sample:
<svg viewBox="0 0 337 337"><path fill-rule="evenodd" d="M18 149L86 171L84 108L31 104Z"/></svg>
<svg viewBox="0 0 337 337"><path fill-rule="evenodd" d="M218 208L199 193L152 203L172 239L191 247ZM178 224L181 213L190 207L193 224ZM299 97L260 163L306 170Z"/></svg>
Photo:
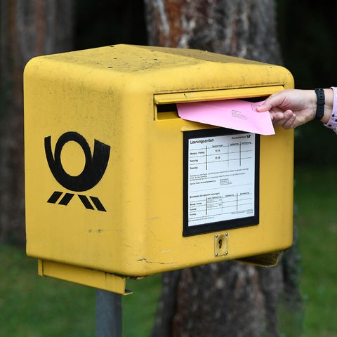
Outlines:
<svg viewBox="0 0 337 337"><path fill-rule="evenodd" d="M70 141L73 141L82 148L86 163L83 171L78 176L71 176L65 169L63 169L61 163L61 152L64 145ZM51 173L62 187L72 192L84 192L91 190L102 179L105 170L107 169L107 163L110 157L110 146L95 139L93 147L93 154L91 154L90 147L86 139L77 132L63 133L55 145L55 152L51 150L51 136L44 138L44 150L46 151L46 158L48 161ZM64 195L63 195L64 194ZM70 203L75 193L55 191L48 199L48 203L65 205ZM86 209L97 209L98 211L106 211L103 204L98 197L87 197L84 194L77 194L82 204Z"/></svg>

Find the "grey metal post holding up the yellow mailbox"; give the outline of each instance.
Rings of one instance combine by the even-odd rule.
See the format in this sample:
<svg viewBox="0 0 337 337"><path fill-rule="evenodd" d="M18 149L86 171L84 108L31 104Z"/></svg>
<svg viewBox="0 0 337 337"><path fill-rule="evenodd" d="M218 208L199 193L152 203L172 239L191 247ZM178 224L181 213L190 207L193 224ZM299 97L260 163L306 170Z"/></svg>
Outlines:
<svg viewBox="0 0 337 337"><path fill-rule="evenodd" d="M95 337L121 337L121 295L96 289Z"/></svg>

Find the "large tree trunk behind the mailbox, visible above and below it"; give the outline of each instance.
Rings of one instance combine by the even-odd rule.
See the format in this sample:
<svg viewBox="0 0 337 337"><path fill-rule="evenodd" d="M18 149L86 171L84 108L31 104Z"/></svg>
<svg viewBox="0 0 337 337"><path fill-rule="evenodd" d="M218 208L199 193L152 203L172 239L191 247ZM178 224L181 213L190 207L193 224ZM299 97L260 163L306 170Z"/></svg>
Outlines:
<svg viewBox="0 0 337 337"><path fill-rule="evenodd" d="M281 63L275 1L145 0L145 8L150 45ZM279 336L277 305L291 267L229 261L166 273L152 336ZM299 298L296 275L290 288Z"/></svg>

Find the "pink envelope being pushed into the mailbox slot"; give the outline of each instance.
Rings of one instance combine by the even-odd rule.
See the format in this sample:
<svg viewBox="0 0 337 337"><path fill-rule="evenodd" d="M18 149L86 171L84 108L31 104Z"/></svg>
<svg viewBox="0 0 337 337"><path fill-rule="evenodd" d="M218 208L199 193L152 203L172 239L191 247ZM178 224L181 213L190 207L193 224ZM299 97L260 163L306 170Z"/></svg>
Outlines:
<svg viewBox="0 0 337 337"><path fill-rule="evenodd" d="M178 114L182 119L203 124L222 126L260 135L275 135L269 112L256 112L262 102L246 100L213 100L196 103L178 103Z"/></svg>

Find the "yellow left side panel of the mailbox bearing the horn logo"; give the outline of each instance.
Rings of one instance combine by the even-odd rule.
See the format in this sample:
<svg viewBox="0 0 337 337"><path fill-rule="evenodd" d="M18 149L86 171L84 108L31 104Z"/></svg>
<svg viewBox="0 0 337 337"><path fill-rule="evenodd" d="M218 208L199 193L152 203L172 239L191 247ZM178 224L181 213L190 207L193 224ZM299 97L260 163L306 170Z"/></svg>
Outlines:
<svg viewBox="0 0 337 337"><path fill-rule="evenodd" d="M133 126L125 124L116 81L49 58L35 58L25 69L29 256L98 270L123 261L121 209L130 199L123 168L132 154L124 138L132 137ZM62 169L69 173L63 180Z"/></svg>

